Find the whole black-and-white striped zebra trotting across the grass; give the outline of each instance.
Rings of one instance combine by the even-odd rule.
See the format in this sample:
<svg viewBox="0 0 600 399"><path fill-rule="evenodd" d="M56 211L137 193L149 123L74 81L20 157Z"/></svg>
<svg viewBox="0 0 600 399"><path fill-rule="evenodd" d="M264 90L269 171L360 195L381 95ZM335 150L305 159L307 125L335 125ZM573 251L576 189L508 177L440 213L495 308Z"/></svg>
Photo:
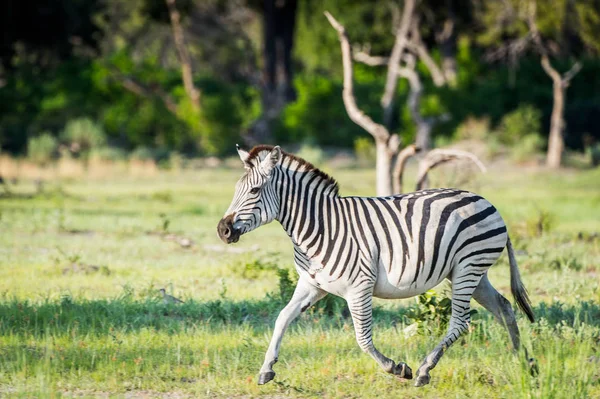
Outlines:
<svg viewBox="0 0 600 399"><path fill-rule="evenodd" d="M418 368L415 386L430 382L430 371L468 329L471 298L506 327L515 351L519 349L511 304L487 276L505 247L512 294L531 322L533 310L506 225L487 200L457 189L342 197L332 177L279 146L260 145L249 152L236 147L245 173L218 223L218 236L235 243L277 220L292 240L299 274L294 294L275 322L259 385L275 377L273 365L289 324L328 293L347 301L359 347L386 372L412 379L406 363L396 364L373 343L373 297L409 298L450 280L448 331Z"/></svg>

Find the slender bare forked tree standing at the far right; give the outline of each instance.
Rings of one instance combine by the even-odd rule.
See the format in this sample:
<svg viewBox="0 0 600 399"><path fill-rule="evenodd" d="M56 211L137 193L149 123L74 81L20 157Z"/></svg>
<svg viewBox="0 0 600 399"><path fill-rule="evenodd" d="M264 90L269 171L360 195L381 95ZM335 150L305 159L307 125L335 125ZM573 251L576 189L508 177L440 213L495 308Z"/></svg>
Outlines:
<svg viewBox="0 0 600 399"><path fill-rule="evenodd" d="M528 24L531 37L535 47L541 56L542 68L544 72L552 79L552 116L550 119L550 136L548 138L548 152L546 154L546 165L550 168L559 168L562 163L562 153L564 150L564 109L567 87L571 79L581 70L581 63L576 62L571 69L564 75L561 75L550 63L548 51L542 42L540 32L536 23L536 2L530 3L530 12L528 15Z"/></svg>

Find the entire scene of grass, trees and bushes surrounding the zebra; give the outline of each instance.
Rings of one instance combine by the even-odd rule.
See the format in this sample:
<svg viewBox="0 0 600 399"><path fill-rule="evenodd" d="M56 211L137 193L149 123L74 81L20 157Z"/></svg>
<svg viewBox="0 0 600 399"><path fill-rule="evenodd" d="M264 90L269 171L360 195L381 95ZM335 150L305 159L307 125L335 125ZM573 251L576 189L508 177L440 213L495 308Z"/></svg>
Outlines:
<svg viewBox="0 0 600 399"><path fill-rule="evenodd" d="M599 0L4 0L0 27L0 397L600 397ZM297 274L278 223L217 238L236 143L342 195L488 199L539 376L473 301L414 389L330 295L258 387ZM489 274L511 298L506 256ZM376 299L378 348L416 370L448 295Z"/></svg>

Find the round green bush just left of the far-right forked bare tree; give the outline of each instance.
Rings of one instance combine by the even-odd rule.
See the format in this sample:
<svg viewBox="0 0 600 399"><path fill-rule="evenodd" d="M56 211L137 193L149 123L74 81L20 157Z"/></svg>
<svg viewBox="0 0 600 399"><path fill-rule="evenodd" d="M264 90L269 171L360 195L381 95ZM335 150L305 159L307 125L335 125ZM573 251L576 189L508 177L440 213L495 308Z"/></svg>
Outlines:
<svg viewBox="0 0 600 399"><path fill-rule="evenodd" d="M523 105L506 114L500 122L500 140L509 146L521 145L526 136L540 135L542 113L531 105Z"/></svg>

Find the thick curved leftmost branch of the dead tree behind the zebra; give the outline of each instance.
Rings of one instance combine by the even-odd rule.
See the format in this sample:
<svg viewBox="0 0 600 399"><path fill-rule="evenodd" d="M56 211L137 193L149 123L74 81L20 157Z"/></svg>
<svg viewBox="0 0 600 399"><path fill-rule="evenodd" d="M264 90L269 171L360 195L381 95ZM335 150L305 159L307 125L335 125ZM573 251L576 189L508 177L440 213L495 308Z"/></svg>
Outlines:
<svg viewBox="0 0 600 399"><path fill-rule="evenodd" d="M331 26L338 32L342 48L342 63L344 68L344 90L342 92L342 98L344 100L346 112L354 123L365 129L376 141L387 142L390 138L390 133L385 126L374 122L356 105L352 77L352 49L350 47L350 42L348 41L348 36L346 35L346 30L328 11L325 11L325 16L329 20Z"/></svg>

